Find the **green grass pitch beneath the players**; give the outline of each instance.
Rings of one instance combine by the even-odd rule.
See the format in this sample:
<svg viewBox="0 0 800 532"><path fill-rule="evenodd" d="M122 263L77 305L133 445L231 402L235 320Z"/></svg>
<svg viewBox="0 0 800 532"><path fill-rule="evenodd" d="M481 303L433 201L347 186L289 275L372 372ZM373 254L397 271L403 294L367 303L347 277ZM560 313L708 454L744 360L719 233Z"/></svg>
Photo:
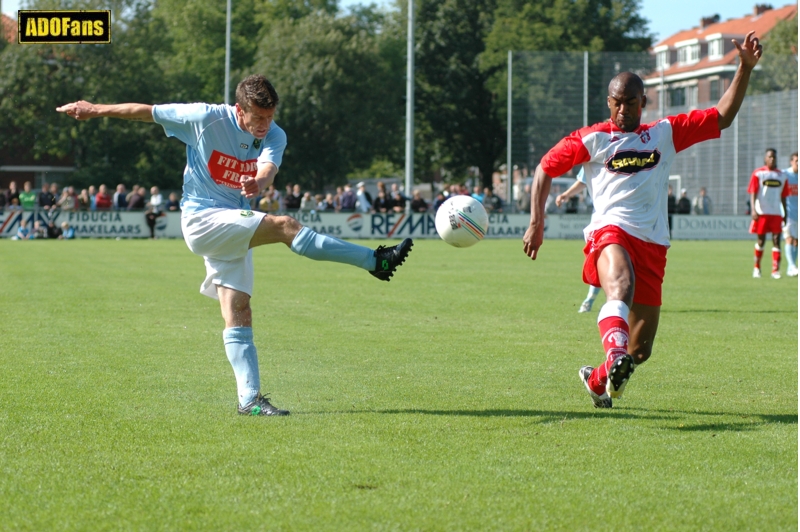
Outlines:
<svg viewBox="0 0 800 532"><path fill-rule="evenodd" d="M581 247L418 241L391 283L255 250L270 419L235 414L183 242L0 241L0 528L797 530L797 280L675 243L598 411Z"/></svg>

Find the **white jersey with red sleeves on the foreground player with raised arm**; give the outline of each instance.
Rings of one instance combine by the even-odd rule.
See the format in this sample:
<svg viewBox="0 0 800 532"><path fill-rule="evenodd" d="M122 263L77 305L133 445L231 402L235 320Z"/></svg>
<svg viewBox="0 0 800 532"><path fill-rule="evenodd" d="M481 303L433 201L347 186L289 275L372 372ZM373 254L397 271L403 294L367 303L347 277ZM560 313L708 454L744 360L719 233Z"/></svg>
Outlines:
<svg viewBox="0 0 800 532"><path fill-rule="evenodd" d="M640 125L625 132L610 120L575 131L542 158L542 170L557 177L583 165L594 203L592 231L616 225L646 242L669 246L667 187L675 154L719 138L719 113L712 107Z"/></svg>

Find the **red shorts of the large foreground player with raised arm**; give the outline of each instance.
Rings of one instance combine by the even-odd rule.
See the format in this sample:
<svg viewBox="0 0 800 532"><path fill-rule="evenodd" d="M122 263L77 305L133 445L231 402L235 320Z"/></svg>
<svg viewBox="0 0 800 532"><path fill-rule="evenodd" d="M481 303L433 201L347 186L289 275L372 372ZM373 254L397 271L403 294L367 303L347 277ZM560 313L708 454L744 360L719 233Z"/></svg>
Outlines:
<svg viewBox="0 0 800 532"><path fill-rule="evenodd" d="M583 253L583 282L600 286L597 273L597 259L600 252L611 244L625 248L633 264L635 290L633 302L640 305L661 306L661 284L664 282L664 269L667 267L667 247L645 242L629 235L616 225L607 225L589 235Z"/></svg>

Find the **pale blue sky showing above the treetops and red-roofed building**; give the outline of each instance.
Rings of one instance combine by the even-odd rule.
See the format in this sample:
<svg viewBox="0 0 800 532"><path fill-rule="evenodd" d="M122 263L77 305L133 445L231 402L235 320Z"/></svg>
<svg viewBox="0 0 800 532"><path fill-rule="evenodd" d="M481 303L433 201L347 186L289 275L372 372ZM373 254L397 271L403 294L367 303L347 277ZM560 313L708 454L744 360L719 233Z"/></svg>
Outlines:
<svg viewBox="0 0 800 532"><path fill-rule="evenodd" d="M235 1L235 0L234 0ZM372 0L378 5L390 5L390 0ZM16 18L20 9L20 0L2 0L3 13ZM358 3L369 3L362 0L340 0L342 7ZM641 0L642 15L650 21L650 30L657 39L664 39L680 30L686 30L700 23L702 17L719 13L722 20L739 18L752 13L756 3L761 0ZM791 2L774 2L781 7Z"/></svg>

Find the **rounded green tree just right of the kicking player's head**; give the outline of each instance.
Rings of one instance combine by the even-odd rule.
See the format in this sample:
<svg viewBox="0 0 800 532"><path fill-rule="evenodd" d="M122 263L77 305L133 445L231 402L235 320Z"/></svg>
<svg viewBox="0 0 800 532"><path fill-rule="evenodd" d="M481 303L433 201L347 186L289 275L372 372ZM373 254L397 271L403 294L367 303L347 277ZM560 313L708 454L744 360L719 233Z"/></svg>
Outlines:
<svg viewBox="0 0 800 532"><path fill-rule="evenodd" d="M284 182L312 190L340 183L376 156L402 146L402 70L399 47L380 32L382 16L314 12L264 27L254 69L281 97L276 121L288 145Z"/></svg>

